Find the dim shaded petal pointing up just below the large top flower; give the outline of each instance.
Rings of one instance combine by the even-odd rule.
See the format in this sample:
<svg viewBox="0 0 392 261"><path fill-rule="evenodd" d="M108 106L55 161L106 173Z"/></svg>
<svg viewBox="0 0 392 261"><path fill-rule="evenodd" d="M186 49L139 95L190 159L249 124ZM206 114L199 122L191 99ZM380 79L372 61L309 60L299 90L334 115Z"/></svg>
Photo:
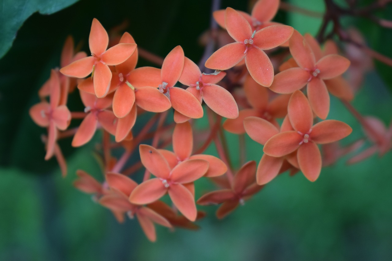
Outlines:
<svg viewBox="0 0 392 261"><path fill-rule="evenodd" d="M246 77L243 88L249 104L253 108L264 111L268 105L267 88L258 84L250 75Z"/></svg>

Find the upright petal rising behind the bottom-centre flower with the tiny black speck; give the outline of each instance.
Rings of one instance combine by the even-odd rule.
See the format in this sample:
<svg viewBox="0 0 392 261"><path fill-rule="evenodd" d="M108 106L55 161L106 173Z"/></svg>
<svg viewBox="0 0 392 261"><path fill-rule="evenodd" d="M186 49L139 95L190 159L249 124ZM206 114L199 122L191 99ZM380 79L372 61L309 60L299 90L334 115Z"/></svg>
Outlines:
<svg viewBox="0 0 392 261"><path fill-rule="evenodd" d="M193 136L189 122L177 123L173 132L173 150L177 158L182 161L192 154Z"/></svg>

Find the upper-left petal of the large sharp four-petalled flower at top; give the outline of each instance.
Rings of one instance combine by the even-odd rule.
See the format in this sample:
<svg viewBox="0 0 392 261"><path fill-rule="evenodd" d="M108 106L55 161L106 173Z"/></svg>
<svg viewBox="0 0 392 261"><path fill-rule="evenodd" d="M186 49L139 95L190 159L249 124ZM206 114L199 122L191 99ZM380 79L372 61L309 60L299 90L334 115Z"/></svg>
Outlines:
<svg viewBox="0 0 392 261"><path fill-rule="evenodd" d="M226 8L225 25L227 33L237 42L243 43L245 39L250 39L252 36L249 22L231 7Z"/></svg>

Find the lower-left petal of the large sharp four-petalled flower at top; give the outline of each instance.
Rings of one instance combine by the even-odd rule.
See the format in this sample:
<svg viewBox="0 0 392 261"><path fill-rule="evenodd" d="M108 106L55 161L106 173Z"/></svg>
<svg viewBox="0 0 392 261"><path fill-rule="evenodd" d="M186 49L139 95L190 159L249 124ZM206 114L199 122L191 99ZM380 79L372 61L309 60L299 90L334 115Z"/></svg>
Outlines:
<svg viewBox="0 0 392 261"><path fill-rule="evenodd" d="M205 62L205 67L227 70L241 62L245 57L245 45L242 43L227 44L213 53Z"/></svg>

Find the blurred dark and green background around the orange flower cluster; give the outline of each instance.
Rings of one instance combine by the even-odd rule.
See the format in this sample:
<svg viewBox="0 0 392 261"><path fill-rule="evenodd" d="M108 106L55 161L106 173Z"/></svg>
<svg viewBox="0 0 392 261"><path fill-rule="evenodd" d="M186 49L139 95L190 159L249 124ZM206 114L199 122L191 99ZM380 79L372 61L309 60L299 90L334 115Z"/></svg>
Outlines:
<svg viewBox="0 0 392 261"><path fill-rule="evenodd" d="M0 1L0 50L11 44L5 36L13 35L12 29L23 23L12 48L0 60L0 260L392 259L391 152L350 166L345 165L345 157L323 169L315 183L302 174L283 174L221 221L214 217L216 207L201 207L208 216L198 221L201 229L197 232L176 229L173 233L158 227L156 243L146 239L137 221L118 224L108 210L72 185L76 169L102 177L91 153L94 141L80 149L72 149L70 139L60 142L68 163L68 176L62 178L54 159L44 161L40 135L45 130L34 125L28 110L38 102L37 91L49 78L50 69L58 66L68 34L88 51L94 17L106 29L127 20L127 31L140 47L165 57L181 45L185 55L198 62L203 53L198 37L209 27L211 1L73 2ZM321 0L290 3L313 11L324 9ZM249 11L246 1L221 1L222 8L227 6ZM37 9L42 13L62 10L43 15L34 13ZM30 17L29 11L34 13ZM377 15L386 17L388 11L390 6ZM282 11L275 20L312 34L321 23L320 18ZM392 36L390 30L366 20L347 19L345 23L368 33L368 44L388 55L385 46L391 45L386 42ZM140 59L138 66L143 65L151 64ZM377 63L377 71L366 75L353 101L361 113L386 124L392 114L390 71ZM77 94L70 99L71 110L82 108ZM328 118L345 121L354 129L345 142L363 137L350 113L338 100L331 102ZM238 141L230 134L227 139L232 161L238 166ZM261 145L247 138L247 147L248 159L258 162ZM207 152L213 154L214 149ZM198 181L196 198L212 188L208 181Z"/></svg>

